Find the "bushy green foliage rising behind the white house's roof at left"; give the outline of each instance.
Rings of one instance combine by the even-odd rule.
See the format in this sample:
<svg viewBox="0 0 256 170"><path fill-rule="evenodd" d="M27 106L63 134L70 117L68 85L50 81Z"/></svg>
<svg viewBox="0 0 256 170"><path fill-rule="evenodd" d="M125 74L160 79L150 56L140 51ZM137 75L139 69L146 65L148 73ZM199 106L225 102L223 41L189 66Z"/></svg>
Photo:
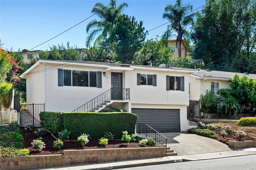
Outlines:
<svg viewBox="0 0 256 170"><path fill-rule="evenodd" d="M50 51L47 49L41 51L39 54L39 59L48 59L48 60L84 60L84 54L82 50L79 49L76 45L74 47L69 45L67 42L67 47L58 44L50 47Z"/></svg>

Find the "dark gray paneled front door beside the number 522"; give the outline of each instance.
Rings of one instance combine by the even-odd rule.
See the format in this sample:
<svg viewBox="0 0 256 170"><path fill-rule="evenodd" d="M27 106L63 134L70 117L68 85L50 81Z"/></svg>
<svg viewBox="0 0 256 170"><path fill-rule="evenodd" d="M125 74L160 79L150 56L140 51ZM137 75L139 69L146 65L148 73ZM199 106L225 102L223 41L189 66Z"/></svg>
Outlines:
<svg viewBox="0 0 256 170"><path fill-rule="evenodd" d="M123 73L111 72L111 99L123 99Z"/></svg>

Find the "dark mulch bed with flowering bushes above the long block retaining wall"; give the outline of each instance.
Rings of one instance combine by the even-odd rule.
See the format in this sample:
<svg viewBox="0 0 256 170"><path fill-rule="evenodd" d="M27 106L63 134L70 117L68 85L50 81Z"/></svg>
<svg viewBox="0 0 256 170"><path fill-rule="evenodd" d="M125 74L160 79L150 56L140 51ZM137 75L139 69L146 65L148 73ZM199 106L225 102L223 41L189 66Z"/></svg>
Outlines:
<svg viewBox="0 0 256 170"><path fill-rule="evenodd" d="M78 150L78 149L109 149L109 148L140 148L140 147L150 147L150 146L140 146L138 141L131 143L126 143L122 140L109 140L108 145L100 146L99 141L90 140L86 146L82 147L80 142L76 141L69 141L64 142L63 147L61 150L53 149L52 145L53 142L56 140L54 137L51 136L49 132L45 132L45 135L42 136L42 141L46 144L45 148L42 151L38 151L37 149L31 149L31 142L34 139L38 139L39 137L34 133L37 128L33 128L31 132L21 127L21 134L24 137L24 142L20 148L28 148L30 155L52 155L52 154L62 154L63 150Z"/></svg>

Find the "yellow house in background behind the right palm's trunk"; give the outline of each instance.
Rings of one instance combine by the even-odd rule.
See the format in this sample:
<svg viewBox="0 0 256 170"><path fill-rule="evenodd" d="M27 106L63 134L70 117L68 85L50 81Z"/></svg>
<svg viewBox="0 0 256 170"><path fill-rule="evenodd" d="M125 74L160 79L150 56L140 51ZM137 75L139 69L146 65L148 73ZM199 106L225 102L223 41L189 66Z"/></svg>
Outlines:
<svg viewBox="0 0 256 170"><path fill-rule="evenodd" d="M173 40L168 40L168 46L172 47L175 49L173 58L178 58L179 57L179 43L176 42L176 39ZM181 57L185 58L188 56L188 49L186 45L186 40L182 39L181 43Z"/></svg>

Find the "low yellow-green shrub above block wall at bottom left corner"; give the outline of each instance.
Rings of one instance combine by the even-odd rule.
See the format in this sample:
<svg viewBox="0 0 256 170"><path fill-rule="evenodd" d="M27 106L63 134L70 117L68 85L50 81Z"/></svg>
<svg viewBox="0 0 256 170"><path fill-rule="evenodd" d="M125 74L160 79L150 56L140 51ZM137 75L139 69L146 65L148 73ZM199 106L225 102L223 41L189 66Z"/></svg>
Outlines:
<svg viewBox="0 0 256 170"><path fill-rule="evenodd" d="M28 149L17 149L13 147L0 147L0 157L29 156Z"/></svg>

